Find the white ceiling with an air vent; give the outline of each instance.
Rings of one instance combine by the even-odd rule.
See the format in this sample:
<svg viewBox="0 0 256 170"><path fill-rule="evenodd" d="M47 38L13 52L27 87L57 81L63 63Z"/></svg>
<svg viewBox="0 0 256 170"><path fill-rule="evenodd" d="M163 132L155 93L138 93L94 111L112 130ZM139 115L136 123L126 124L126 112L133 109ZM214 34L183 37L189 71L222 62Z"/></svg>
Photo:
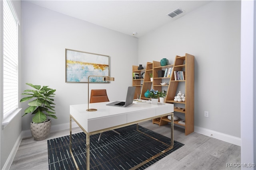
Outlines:
<svg viewBox="0 0 256 170"><path fill-rule="evenodd" d="M188 15L209 0L29 0L28 2L132 35L152 31ZM167 14L182 8L185 12L171 18Z"/></svg>

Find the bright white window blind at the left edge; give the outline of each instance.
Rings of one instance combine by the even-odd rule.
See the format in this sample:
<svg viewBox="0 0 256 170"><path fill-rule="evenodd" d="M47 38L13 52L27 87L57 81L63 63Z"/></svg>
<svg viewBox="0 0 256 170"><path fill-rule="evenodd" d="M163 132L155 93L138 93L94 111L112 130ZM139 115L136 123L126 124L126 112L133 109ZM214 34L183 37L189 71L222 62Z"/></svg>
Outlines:
<svg viewBox="0 0 256 170"><path fill-rule="evenodd" d="M3 113L18 108L18 18L8 0L3 1Z"/></svg>

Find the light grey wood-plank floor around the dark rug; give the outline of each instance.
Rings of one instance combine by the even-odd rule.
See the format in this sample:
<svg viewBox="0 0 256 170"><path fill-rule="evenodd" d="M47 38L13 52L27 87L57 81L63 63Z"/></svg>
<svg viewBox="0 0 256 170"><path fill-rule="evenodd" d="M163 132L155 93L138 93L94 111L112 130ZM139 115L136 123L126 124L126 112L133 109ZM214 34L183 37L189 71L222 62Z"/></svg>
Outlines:
<svg viewBox="0 0 256 170"><path fill-rule="evenodd" d="M159 127L152 121L140 123L143 127L170 137L170 125ZM81 132L80 128L72 133ZM69 135L69 129L52 132L48 139ZM241 163L241 148L198 133L184 135L184 129L174 126L174 140L184 143L180 149L159 160L148 170L222 170L241 169L227 164ZM48 170L47 140L22 139L10 170Z"/></svg>

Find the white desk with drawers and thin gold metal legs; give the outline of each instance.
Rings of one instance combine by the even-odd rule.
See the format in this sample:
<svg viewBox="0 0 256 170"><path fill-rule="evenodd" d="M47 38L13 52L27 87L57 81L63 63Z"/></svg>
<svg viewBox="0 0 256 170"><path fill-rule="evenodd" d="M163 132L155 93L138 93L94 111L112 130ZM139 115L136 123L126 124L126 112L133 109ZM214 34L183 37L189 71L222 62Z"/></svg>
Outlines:
<svg viewBox="0 0 256 170"><path fill-rule="evenodd" d="M84 131L84 133L86 133L87 169L90 169L90 135L140 123L157 117L172 115L171 145L168 150L172 149L174 111L173 104L161 104L158 102L158 104L155 105L151 104L150 101L147 101L143 104L131 104L128 107L114 107L106 106L108 103L110 102L92 103L89 105L90 108L98 109L97 111L86 111L88 104L70 105L70 153L75 164L76 160L71 150L72 119L74 119L74 121ZM78 169L77 164L76 168Z"/></svg>

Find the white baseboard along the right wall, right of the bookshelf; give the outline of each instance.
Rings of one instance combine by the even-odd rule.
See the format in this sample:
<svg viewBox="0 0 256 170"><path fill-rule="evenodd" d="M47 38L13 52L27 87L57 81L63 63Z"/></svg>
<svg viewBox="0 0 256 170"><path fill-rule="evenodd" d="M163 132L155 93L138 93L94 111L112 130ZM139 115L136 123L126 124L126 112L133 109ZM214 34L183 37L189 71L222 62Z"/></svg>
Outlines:
<svg viewBox="0 0 256 170"><path fill-rule="evenodd" d="M220 133L220 132L217 132L217 131L212 131L212 130L205 129L205 128L198 127L198 126L194 126L194 131L196 133L200 133L202 135L206 135L206 136L209 136L209 137L213 137L215 139L219 139L221 141L225 141L225 142L228 142L228 143L232 143L234 145L241 146L241 138L238 138L238 137L234 137L234 136L227 135L227 134L224 134L224 133Z"/></svg>

